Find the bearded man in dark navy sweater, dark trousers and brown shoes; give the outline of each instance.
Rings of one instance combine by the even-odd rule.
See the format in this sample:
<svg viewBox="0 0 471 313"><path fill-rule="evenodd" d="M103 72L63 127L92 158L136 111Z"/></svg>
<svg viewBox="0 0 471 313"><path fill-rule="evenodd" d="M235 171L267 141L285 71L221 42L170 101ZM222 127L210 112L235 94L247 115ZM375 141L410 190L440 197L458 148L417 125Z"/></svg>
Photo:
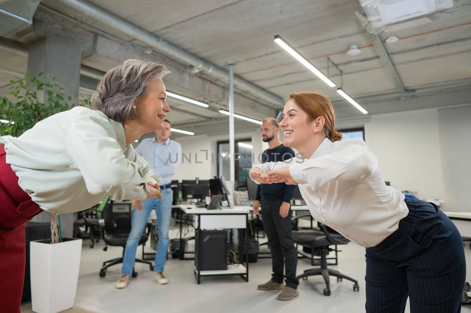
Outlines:
<svg viewBox="0 0 471 313"><path fill-rule="evenodd" d="M262 163L285 161L295 156L294 151L284 146L278 139L279 126L274 118L263 120L260 130L262 140L268 142L268 149L262 154ZM297 290L299 282L296 279L298 253L291 235L290 202L294 188L295 185L285 183L259 185L256 200L253 202L253 212L256 215L260 214L260 204L262 207L262 223L268 237L273 269L272 278L257 288L283 290L278 295L278 300L291 300L299 295ZM283 278L286 286L283 284Z"/></svg>

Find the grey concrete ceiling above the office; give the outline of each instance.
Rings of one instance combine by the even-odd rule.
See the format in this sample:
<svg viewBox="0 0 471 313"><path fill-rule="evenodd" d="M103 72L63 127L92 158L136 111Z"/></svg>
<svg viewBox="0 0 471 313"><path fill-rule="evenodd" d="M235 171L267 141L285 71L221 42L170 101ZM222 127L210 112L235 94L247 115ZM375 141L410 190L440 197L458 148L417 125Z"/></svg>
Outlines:
<svg viewBox="0 0 471 313"><path fill-rule="evenodd" d="M220 67L234 64L235 75L283 99L293 91L320 89L334 101L340 118L355 117L361 113L346 102L336 101L340 98L334 88L327 87L279 48L273 41L274 35L281 35L325 73L326 58L329 56L343 71L344 90L354 98L398 90L356 16L359 8L357 0L89 2L212 64ZM399 39L396 43L384 43L384 46L406 90L471 80L471 5L467 3L469 1L455 1L454 8L446 12L390 25L379 33L382 40L392 35ZM82 52L82 65L106 72L129 57L168 64L172 74L165 79L167 89L203 100L215 112L201 112L196 107L172 103L171 100L171 106L173 104L176 109L169 115L172 122L191 128L188 121L208 120L206 125L195 124L192 131L197 134L219 131L219 124L227 128L227 121L214 120L221 118L217 110L227 106L227 81L215 79L210 73L191 75L187 71L188 64L172 60L171 56L158 53L146 55L129 45L146 47L145 43L56 0L41 1L37 15L59 18L45 7L103 32L95 33L93 45L85 44L90 48ZM65 19L63 23L77 27L77 22L71 21ZM89 29L86 31L90 32ZM112 36L121 41L117 42ZM34 28L22 28L6 34L4 39L27 49L40 37ZM361 53L347 56L345 52L353 44L360 48ZM10 79L26 72L26 58L0 49L0 95L7 92ZM339 72L330 66L329 73L333 81L340 85ZM89 82L87 88L90 85L93 82ZM373 114L412 110L463 103L470 98L470 89L468 85L416 94L406 99L396 97L358 102ZM257 119L276 115L276 110L257 95L237 87L235 92L237 113ZM437 103L430 99L440 101ZM257 127L252 123L240 123L236 124L237 127Z"/></svg>

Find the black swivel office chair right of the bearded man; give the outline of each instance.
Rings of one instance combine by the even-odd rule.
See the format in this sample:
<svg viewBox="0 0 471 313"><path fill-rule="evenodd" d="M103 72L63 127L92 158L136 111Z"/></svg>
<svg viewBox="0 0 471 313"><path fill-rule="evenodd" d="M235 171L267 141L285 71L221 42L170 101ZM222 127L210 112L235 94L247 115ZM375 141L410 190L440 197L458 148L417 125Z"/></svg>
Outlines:
<svg viewBox="0 0 471 313"><path fill-rule="evenodd" d="M292 218L292 222L296 221L300 217L311 216L310 214L302 214ZM358 291L358 281L353 278L340 273L339 271L327 268L327 254L330 251L336 251L336 249L330 248L333 245L345 245L350 241L343 237L341 234L335 231L329 231L328 227L319 223L319 230L308 229L299 230L295 223L292 223L293 228L292 236L296 245L303 247L309 247L312 255L320 256L320 268L312 268L304 271L301 275L298 275L297 279L307 280L309 276L322 275L325 281L326 288L323 290L325 296L330 296L330 278L329 276L337 277L337 281L342 281L343 278L349 281L353 281L353 290Z"/></svg>

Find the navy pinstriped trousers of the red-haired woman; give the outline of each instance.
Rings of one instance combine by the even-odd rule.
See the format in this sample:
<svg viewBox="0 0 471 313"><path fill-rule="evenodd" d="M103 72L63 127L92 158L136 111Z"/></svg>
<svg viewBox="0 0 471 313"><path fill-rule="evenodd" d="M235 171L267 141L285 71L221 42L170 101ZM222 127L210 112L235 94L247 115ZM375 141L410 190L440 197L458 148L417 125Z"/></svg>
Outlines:
<svg viewBox="0 0 471 313"><path fill-rule="evenodd" d="M466 276L463 241L434 204L406 197L409 214L366 248L366 312L458 313Z"/></svg>

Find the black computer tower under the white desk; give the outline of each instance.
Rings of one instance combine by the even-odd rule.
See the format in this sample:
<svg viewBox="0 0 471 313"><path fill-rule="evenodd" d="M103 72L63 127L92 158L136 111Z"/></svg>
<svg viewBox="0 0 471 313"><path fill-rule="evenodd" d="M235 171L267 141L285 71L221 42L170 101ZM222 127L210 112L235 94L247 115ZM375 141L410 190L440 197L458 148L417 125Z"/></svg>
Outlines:
<svg viewBox="0 0 471 313"><path fill-rule="evenodd" d="M227 270L227 231L201 230L195 235L198 271Z"/></svg>

